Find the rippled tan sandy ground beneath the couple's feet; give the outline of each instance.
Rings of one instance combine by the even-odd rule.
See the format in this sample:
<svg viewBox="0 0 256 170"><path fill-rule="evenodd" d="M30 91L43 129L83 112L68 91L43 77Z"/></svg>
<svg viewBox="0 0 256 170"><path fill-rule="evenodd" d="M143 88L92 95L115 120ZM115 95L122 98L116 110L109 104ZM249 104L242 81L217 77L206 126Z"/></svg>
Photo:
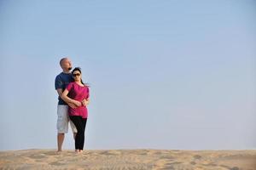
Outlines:
<svg viewBox="0 0 256 170"><path fill-rule="evenodd" d="M0 169L256 170L256 150L1 151Z"/></svg>

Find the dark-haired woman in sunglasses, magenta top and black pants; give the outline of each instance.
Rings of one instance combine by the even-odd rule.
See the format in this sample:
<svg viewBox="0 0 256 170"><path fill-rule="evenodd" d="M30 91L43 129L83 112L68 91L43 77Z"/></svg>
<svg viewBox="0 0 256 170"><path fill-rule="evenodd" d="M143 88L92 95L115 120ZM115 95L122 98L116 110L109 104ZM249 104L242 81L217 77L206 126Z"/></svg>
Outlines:
<svg viewBox="0 0 256 170"><path fill-rule="evenodd" d="M86 105L89 104L89 88L82 81L82 72L79 67L73 69L72 76L73 82L67 85L67 88L61 94L61 99L76 105L76 107L68 108L68 114L78 130L75 136L76 152L81 152L84 149L84 130L88 116Z"/></svg>

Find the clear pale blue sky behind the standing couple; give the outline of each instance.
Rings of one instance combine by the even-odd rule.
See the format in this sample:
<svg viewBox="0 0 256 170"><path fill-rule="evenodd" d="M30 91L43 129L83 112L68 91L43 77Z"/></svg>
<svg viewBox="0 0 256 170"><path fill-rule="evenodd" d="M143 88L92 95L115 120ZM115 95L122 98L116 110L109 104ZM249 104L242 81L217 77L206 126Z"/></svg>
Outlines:
<svg viewBox="0 0 256 170"><path fill-rule="evenodd" d="M255 9L253 0L1 0L0 150L56 148L65 56L91 86L86 149L256 149Z"/></svg>

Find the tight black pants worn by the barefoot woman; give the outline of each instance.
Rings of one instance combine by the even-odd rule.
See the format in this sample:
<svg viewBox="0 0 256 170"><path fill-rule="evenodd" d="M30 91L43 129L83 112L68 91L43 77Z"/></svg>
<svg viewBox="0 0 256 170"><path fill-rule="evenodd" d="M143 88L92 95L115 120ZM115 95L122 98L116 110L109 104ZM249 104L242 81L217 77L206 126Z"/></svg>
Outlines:
<svg viewBox="0 0 256 170"><path fill-rule="evenodd" d="M78 133L75 138L75 148L76 150L84 149L84 131L87 119L81 116L69 116L70 120L77 127Z"/></svg>

